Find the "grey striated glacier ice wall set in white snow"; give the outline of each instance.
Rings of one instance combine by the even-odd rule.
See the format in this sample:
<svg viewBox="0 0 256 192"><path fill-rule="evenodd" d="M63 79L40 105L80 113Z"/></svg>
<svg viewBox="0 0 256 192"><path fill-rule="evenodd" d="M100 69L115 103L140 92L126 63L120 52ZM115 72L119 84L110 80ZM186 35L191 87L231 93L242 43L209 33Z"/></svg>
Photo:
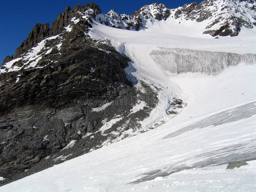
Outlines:
<svg viewBox="0 0 256 192"><path fill-rule="evenodd" d="M199 72L217 75L229 66L239 63L255 64L256 54L209 52L181 48L159 47L150 54L155 63L174 74Z"/></svg>

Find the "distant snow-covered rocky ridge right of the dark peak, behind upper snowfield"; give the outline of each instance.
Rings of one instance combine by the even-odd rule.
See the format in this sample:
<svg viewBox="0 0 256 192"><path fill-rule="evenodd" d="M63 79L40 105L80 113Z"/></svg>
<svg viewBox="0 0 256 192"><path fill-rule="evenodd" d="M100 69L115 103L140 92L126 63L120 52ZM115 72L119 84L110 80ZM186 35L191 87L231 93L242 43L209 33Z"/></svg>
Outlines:
<svg viewBox="0 0 256 192"><path fill-rule="evenodd" d="M98 14L96 20L110 27L140 30L168 20L179 25L197 24L200 34L211 36L237 36L241 28L253 28L256 25L256 3L254 0L205 0L185 4L177 9L168 9L164 4L145 5L132 15L118 14L113 8L107 14ZM195 22L193 22L195 21ZM195 26L193 26L195 28ZM194 30L190 31L191 33Z"/></svg>

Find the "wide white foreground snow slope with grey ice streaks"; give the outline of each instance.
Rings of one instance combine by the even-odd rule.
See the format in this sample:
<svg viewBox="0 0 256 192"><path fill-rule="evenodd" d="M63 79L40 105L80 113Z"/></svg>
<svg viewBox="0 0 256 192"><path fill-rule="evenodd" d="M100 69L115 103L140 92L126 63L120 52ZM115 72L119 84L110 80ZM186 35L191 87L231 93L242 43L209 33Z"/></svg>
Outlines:
<svg viewBox="0 0 256 192"><path fill-rule="evenodd" d="M239 65L218 76L170 77L191 98L172 121L0 190L253 191L255 72L255 65ZM233 161L249 165L226 170Z"/></svg>

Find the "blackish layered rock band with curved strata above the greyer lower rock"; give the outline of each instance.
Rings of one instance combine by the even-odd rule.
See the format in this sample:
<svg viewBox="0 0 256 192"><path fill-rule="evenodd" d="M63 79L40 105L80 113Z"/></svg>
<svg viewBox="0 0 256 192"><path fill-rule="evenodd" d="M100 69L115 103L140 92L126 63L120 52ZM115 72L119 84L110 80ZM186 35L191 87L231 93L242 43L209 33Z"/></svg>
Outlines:
<svg viewBox="0 0 256 192"><path fill-rule="evenodd" d="M31 104L45 103L47 107L62 107L69 100L79 99L85 93L89 97L117 96L119 83L127 83L123 68L128 64L120 54L112 54L119 60L113 60L110 55L90 46L63 47L61 56L50 54L40 60L43 66L49 59L58 62L39 70L24 71L18 83L15 83L16 78L12 78L17 72L0 76L3 81L0 88L0 114ZM94 68L92 72L91 68ZM4 82L5 79L9 81ZM108 95L107 86L113 86Z"/></svg>

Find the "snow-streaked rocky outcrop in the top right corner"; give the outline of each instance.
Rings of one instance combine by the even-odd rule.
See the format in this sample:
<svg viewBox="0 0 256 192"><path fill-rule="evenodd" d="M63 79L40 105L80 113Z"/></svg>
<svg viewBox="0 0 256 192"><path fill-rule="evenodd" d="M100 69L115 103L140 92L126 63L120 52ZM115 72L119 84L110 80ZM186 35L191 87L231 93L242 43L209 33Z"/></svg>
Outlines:
<svg viewBox="0 0 256 192"><path fill-rule="evenodd" d="M200 4L185 4L174 15L176 19L207 21L204 34L237 36L242 26L256 25L255 6L254 0L205 0Z"/></svg>

